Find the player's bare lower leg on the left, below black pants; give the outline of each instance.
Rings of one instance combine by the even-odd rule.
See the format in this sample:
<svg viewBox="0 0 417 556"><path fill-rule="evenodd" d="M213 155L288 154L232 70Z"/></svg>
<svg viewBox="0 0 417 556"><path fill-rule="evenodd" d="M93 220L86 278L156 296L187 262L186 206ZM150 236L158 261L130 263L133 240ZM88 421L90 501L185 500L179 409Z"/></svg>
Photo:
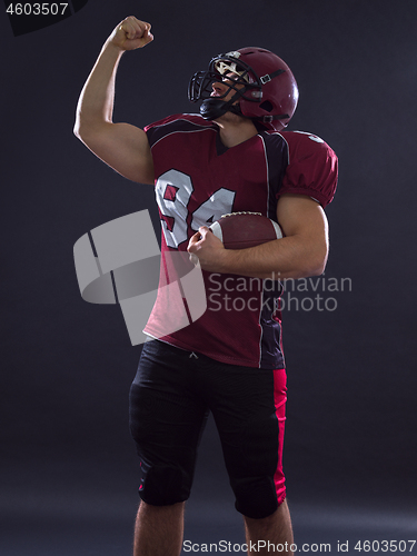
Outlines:
<svg viewBox="0 0 417 556"><path fill-rule="evenodd" d="M185 503L150 506L140 503L135 525L133 556L179 556Z"/></svg>

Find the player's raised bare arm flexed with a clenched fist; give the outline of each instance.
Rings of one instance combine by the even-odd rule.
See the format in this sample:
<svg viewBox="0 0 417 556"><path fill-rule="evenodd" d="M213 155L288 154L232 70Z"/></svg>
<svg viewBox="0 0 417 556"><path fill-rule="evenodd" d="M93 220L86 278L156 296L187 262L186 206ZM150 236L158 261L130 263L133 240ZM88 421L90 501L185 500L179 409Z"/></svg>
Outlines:
<svg viewBox="0 0 417 556"><path fill-rule="evenodd" d="M152 156L142 129L112 121L115 80L123 52L152 40L150 24L145 21L129 17L117 26L81 91L73 130L103 162L139 183L153 183Z"/></svg>

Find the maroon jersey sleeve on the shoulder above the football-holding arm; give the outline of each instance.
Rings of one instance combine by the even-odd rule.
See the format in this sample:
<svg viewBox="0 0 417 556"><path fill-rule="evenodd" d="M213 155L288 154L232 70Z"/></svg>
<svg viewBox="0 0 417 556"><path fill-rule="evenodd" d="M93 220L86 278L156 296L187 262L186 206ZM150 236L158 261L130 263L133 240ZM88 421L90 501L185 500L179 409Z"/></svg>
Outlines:
<svg viewBox="0 0 417 556"><path fill-rule="evenodd" d="M281 132L288 145L288 166L277 193L307 195L322 207L331 202L338 178L335 151L319 137L302 131Z"/></svg>

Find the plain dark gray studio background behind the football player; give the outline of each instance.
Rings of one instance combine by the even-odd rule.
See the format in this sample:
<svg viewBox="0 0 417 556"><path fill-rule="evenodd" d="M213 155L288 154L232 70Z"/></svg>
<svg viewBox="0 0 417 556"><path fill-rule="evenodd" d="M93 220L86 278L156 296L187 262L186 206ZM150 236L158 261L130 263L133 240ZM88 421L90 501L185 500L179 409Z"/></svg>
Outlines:
<svg viewBox="0 0 417 556"><path fill-rule="evenodd" d="M292 69L290 129L322 137L340 178L327 209L335 311L287 311L285 469L296 542L416 538L414 1L89 0L59 24L2 44L1 554L128 555L138 463L127 397L140 354L121 311L82 301L72 246L148 208L72 135L102 42L126 16L155 41L121 62L115 119L193 111L190 76L216 53L262 46ZM306 294L302 294L306 295ZM311 296L310 294L307 294ZM212 424L186 538L241 543ZM417 553L415 547L414 553Z"/></svg>

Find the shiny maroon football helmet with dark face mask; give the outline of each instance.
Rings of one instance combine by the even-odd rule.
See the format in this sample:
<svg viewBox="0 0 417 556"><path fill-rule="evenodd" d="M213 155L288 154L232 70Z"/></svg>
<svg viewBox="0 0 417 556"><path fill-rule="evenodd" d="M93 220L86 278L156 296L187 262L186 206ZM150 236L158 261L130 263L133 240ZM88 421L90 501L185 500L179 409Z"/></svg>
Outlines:
<svg viewBox="0 0 417 556"><path fill-rule="evenodd" d="M212 97L212 83L229 88ZM230 90L235 95L222 100ZM207 71L196 72L188 86L191 102L202 100L200 113L207 120L227 111L239 113L279 131L291 119L298 102L298 87L289 67L270 50L247 47L211 59Z"/></svg>

